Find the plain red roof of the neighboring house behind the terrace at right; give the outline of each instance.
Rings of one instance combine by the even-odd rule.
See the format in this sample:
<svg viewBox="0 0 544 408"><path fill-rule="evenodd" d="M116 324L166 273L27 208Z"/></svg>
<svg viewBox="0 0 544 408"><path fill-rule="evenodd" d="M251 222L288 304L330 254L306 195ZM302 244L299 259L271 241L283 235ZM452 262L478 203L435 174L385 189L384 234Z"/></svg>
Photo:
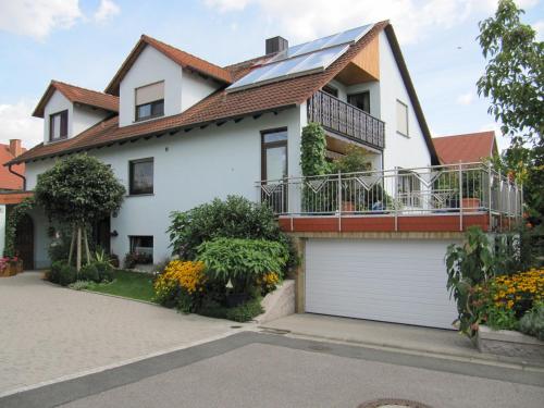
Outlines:
<svg viewBox="0 0 544 408"><path fill-rule="evenodd" d="M497 152L493 131L434 137L433 144L442 164L479 162Z"/></svg>

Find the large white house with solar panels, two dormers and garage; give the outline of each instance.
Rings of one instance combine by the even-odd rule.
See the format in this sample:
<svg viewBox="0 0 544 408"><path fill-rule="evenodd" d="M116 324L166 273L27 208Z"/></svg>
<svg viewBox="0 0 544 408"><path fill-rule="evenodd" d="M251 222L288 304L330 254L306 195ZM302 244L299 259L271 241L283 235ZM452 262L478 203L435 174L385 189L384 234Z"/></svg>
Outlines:
<svg viewBox="0 0 544 408"><path fill-rule="evenodd" d="M438 157L388 22L294 47L270 38L264 55L223 67L141 36L104 92L52 82L35 115L44 143L11 164L26 163L29 190L69 153L110 164L128 194L96 236L120 257L168 257L173 210L231 194L270 203L302 255L299 311L446 327L446 246L495 217L431 199ZM356 145L373 171L301 177L310 121L329 157ZM32 217L46 267L48 222Z"/></svg>

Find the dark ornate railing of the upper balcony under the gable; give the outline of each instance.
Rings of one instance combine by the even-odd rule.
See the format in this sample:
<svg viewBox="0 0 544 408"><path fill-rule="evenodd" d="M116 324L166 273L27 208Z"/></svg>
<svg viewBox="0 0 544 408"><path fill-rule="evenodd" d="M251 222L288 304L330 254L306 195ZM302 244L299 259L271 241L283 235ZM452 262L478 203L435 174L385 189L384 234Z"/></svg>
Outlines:
<svg viewBox="0 0 544 408"><path fill-rule="evenodd" d="M308 100L308 121L378 149L385 146L385 123L322 90Z"/></svg>

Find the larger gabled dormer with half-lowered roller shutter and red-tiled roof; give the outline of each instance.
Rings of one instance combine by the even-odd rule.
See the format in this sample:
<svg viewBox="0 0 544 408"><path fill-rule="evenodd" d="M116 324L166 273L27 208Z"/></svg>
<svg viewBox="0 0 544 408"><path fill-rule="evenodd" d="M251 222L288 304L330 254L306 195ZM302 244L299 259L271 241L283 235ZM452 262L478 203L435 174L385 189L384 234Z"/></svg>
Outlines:
<svg viewBox="0 0 544 408"><path fill-rule="evenodd" d="M182 113L228 84L226 70L143 35L106 92L119 96L127 126Z"/></svg>

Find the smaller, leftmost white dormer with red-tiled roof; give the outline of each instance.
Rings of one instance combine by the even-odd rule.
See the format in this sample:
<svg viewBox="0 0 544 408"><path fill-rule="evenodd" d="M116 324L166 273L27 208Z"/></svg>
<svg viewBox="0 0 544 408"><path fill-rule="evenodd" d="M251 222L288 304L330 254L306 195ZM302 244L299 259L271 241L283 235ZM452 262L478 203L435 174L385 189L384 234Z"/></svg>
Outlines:
<svg viewBox="0 0 544 408"><path fill-rule="evenodd" d="M115 96L51 81L33 115L44 119L44 143L49 144L77 136L118 111Z"/></svg>

